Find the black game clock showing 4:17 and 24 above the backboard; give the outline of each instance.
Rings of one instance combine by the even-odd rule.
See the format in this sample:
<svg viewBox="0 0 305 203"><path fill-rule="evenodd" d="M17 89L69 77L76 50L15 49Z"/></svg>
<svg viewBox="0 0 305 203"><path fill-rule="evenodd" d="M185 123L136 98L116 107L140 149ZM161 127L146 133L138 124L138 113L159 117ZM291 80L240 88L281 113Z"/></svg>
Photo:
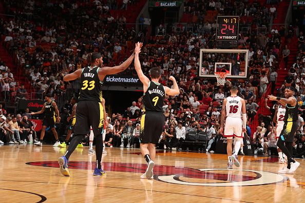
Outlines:
<svg viewBox="0 0 305 203"><path fill-rule="evenodd" d="M217 16L216 39L221 41L238 40L239 16Z"/></svg>

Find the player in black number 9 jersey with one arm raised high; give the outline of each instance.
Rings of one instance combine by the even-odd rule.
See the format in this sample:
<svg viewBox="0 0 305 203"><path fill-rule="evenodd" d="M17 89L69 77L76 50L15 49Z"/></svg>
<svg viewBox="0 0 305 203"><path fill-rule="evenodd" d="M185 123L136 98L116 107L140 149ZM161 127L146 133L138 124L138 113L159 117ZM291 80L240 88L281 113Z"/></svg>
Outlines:
<svg viewBox="0 0 305 203"><path fill-rule="evenodd" d="M165 121L162 109L164 97L165 94L179 94L179 88L176 79L173 76L170 76L169 79L173 81L174 89L170 89L160 84L159 79L161 78L161 70L157 67L150 69L151 80L143 74L139 60L140 47L141 43L137 43L135 49L135 67L139 79L143 83L144 115L142 115L141 118L140 148L142 155L147 161L146 172L141 175L141 178L151 179L153 178L153 168L155 166L155 145L158 143L160 135L162 134Z"/></svg>

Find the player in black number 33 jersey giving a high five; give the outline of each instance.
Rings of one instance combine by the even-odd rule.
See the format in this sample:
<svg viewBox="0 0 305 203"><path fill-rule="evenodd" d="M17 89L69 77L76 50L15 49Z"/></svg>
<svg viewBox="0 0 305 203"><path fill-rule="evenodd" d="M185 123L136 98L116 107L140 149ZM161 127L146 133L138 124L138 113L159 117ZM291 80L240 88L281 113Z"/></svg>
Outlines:
<svg viewBox="0 0 305 203"><path fill-rule="evenodd" d="M80 78L81 90L79 103L76 110L76 124L74 136L70 142L66 154L58 159L60 171L65 176L70 176L68 170L68 159L83 137L90 132L90 126L96 138L96 162L97 167L93 175L103 175L101 159L103 153L103 125L104 111L102 106L102 81L106 75L116 74L127 69L134 60L133 53L123 64L115 67L103 67L103 57L98 52L88 54L87 60L90 66L78 69L64 76L65 81ZM102 68L103 67L103 68Z"/></svg>

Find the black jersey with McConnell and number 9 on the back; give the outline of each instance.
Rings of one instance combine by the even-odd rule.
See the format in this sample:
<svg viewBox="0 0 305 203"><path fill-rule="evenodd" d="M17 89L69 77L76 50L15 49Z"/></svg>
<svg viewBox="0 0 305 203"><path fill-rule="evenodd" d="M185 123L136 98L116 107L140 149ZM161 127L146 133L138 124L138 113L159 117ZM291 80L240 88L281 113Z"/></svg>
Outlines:
<svg viewBox="0 0 305 203"><path fill-rule="evenodd" d="M165 90L162 84L149 82L143 96L144 111L163 112Z"/></svg>

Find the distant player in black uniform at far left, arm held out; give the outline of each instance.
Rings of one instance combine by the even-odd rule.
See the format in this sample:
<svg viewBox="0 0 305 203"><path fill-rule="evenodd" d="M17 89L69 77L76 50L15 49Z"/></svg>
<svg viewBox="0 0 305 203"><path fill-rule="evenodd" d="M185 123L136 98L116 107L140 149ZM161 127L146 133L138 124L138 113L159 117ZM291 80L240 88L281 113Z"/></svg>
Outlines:
<svg viewBox="0 0 305 203"><path fill-rule="evenodd" d="M59 115L59 110L58 110L58 107L57 107L55 101L53 101L51 99L51 96L49 94L45 95L45 100L46 100L46 102L45 102L42 110L31 113L31 115L44 113L43 127L41 130L40 140L38 143L34 143L34 145L42 146L46 128L50 127L50 129L53 132L54 137L56 139L56 143L53 145L53 147L58 147L61 143L58 139L58 134L54 128L54 124L55 124L55 121L56 121L56 123L59 123L61 117ZM55 114L56 114L56 117L55 117Z"/></svg>

